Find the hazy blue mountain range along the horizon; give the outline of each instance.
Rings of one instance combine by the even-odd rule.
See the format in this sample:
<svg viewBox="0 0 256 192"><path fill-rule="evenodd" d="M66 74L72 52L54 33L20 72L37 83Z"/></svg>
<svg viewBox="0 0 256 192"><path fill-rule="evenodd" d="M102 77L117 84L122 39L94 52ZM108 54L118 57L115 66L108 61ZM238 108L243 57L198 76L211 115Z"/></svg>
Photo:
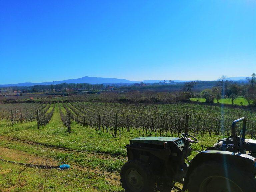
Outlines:
<svg viewBox="0 0 256 192"><path fill-rule="evenodd" d="M231 81L244 81L247 77L229 77L228 80ZM145 83L158 83L163 80L144 80ZM168 81L168 80L166 80ZM174 82L188 82L183 80L173 80ZM191 80L192 81L192 80ZM132 84L140 83L140 81L130 81L127 79L117 79L117 78L105 78L105 77L82 77L78 79L67 79L63 81L51 81L43 83L17 83L17 84L6 84L0 85L0 87L12 87L12 86L33 86L33 85L52 85L52 84L61 84L61 83L90 83L90 84L111 84L111 83L123 83L123 84Z"/></svg>

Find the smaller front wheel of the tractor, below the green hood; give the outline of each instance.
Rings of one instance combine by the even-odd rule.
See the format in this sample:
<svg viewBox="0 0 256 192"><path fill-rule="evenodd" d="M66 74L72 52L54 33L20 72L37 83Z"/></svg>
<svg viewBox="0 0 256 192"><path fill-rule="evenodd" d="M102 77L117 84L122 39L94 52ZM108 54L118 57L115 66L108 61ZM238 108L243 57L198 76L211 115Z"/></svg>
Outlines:
<svg viewBox="0 0 256 192"><path fill-rule="evenodd" d="M152 192L155 183L150 165L139 160L126 162L121 168L120 181L126 192Z"/></svg>

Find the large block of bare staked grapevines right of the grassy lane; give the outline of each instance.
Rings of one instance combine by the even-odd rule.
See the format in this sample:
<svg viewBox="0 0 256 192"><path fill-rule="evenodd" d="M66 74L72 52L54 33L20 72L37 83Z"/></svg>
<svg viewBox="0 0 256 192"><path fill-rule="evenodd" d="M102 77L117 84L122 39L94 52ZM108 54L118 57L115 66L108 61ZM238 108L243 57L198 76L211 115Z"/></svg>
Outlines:
<svg viewBox="0 0 256 192"><path fill-rule="evenodd" d="M117 105L86 102L68 102L65 106L72 113L72 118L82 126L97 130L113 130L115 114L118 114L117 127L119 130L139 130L144 135L167 135L168 132L180 134L185 130L185 115L189 114L189 132L194 135L230 135L230 125L240 115L247 117L247 133L255 134L255 112L249 110L235 111L232 114L219 115L218 108L200 106L203 110L195 111L188 106L172 105L159 107L156 105ZM198 109L198 108L196 108ZM229 109L224 109L228 111ZM222 118L221 118L222 117ZM237 127L237 132L240 125Z"/></svg>

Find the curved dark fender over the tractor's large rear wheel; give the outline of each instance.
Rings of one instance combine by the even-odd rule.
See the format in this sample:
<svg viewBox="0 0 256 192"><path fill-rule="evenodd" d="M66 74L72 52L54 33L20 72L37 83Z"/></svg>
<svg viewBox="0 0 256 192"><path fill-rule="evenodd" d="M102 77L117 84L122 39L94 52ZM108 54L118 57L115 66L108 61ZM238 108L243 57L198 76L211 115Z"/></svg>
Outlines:
<svg viewBox="0 0 256 192"><path fill-rule="evenodd" d="M185 192L185 190L187 189L189 176L193 172L193 170L207 161L216 161L223 164L224 166L225 164L232 164L233 166L242 167L245 170L248 169L249 171L256 174L256 158L250 155L218 150L201 151L191 160L186 176L184 178L182 191Z"/></svg>

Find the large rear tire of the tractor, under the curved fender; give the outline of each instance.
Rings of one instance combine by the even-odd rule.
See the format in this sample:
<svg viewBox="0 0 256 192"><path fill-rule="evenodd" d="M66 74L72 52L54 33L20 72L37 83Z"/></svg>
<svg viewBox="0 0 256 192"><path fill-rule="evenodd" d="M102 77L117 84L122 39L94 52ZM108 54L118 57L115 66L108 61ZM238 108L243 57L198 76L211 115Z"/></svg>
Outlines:
<svg viewBox="0 0 256 192"><path fill-rule="evenodd" d="M189 192L255 192L256 179L251 171L218 162L203 163L190 174Z"/></svg>

